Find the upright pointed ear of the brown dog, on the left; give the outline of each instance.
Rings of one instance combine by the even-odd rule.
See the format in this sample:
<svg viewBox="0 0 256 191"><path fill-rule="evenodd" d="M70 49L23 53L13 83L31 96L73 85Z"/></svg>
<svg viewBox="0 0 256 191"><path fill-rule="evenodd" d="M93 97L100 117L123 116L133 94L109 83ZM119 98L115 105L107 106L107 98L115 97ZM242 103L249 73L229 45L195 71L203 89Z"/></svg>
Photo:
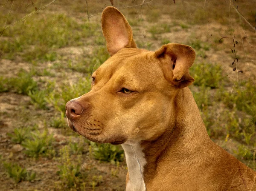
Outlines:
<svg viewBox="0 0 256 191"><path fill-rule="evenodd" d="M106 7L102 12L102 31L112 56L122 48L137 48L131 26L115 7Z"/></svg>

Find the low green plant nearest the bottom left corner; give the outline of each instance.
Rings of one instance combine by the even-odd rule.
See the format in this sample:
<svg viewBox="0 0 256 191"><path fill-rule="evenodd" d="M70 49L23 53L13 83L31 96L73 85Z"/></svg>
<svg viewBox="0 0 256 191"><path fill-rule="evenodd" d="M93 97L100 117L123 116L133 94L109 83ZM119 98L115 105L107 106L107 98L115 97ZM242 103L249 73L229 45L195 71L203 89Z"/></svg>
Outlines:
<svg viewBox="0 0 256 191"><path fill-rule="evenodd" d="M7 174L9 177L13 178L16 183L22 180L32 181L35 179L35 172L27 172L26 168L22 168L20 165L3 162L4 168L6 168Z"/></svg>

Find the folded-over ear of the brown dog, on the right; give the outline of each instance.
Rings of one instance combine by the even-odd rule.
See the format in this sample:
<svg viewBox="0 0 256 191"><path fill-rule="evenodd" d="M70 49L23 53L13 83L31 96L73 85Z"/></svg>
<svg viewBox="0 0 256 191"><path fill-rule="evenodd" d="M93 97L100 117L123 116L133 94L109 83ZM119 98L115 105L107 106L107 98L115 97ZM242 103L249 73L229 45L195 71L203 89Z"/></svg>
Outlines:
<svg viewBox="0 0 256 191"><path fill-rule="evenodd" d="M177 88L191 85L195 79L189 75L189 68L195 61L195 51L192 47L169 43L155 52L160 60L166 80Z"/></svg>

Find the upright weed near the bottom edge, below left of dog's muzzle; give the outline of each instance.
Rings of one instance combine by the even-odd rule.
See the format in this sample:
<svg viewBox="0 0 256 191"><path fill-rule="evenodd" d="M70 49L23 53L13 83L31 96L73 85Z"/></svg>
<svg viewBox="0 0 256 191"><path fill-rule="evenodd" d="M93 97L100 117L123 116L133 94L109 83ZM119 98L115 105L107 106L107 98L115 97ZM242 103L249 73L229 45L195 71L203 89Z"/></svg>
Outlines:
<svg viewBox="0 0 256 191"><path fill-rule="evenodd" d="M75 161L70 158L70 147L67 145L61 149L61 165L58 165L60 176L65 187L70 188L79 183L78 177L80 175L81 161Z"/></svg>

